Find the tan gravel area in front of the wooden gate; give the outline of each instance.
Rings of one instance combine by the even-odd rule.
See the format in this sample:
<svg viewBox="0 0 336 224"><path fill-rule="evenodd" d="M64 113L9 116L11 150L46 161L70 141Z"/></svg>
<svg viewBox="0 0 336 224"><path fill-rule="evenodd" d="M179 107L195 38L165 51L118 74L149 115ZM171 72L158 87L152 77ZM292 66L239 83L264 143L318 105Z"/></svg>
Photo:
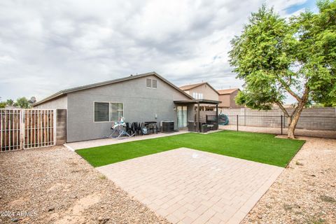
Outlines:
<svg viewBox="0 0 336 224"><path fill-rule="evenodd" d="M167 223L64 146L0 153L0 183L0 223Z"/></svg>

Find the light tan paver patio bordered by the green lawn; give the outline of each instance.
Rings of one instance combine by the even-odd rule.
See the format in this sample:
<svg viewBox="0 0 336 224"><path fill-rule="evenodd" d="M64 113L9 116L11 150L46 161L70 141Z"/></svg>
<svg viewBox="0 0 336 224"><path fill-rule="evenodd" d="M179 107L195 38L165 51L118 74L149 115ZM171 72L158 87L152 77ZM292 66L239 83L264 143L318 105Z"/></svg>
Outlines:
<svg viewBox="0 0 336 224"><path fill-rule="evenodd" d="M97 169L172 223L239 223L283 171L190 148Z"/></svg>

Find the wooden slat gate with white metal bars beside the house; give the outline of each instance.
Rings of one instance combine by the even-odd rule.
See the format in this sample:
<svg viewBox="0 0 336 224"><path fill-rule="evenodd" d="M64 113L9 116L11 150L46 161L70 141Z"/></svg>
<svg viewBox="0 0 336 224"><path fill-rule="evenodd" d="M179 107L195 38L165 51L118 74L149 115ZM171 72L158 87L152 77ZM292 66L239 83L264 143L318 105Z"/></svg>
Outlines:
<svg viewBox="0 0 336 224"><path fill-rule="evenodd" d="M0 151L54 146L55 110L0 109Z"/></svg>

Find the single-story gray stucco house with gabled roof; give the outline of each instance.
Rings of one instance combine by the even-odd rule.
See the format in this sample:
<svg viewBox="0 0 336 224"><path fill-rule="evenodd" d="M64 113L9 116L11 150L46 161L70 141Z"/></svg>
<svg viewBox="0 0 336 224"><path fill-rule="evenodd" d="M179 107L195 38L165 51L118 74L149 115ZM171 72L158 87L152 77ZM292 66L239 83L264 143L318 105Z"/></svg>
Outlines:
<svg viewBox="0 0 336 224"><path fill-rule="evenodd" d="M125 121L174 120L175 129L194 120L195 104L186 92L158 73L143 73L52 94L33 106L35 109L66 109L66 141L100 139L111 133L120 116Z"/></svg>

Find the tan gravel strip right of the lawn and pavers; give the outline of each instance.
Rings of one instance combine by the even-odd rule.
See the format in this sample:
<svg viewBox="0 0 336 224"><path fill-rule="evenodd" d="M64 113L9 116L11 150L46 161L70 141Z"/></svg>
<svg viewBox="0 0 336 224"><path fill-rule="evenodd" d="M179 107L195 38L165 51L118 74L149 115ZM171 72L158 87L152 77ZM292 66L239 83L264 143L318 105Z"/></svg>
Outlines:
<svg viewBox="0 0 336 224"><path fill-rule="evenodd" d="M242 223L336 223L336 140L306 144Z"/></svg>

